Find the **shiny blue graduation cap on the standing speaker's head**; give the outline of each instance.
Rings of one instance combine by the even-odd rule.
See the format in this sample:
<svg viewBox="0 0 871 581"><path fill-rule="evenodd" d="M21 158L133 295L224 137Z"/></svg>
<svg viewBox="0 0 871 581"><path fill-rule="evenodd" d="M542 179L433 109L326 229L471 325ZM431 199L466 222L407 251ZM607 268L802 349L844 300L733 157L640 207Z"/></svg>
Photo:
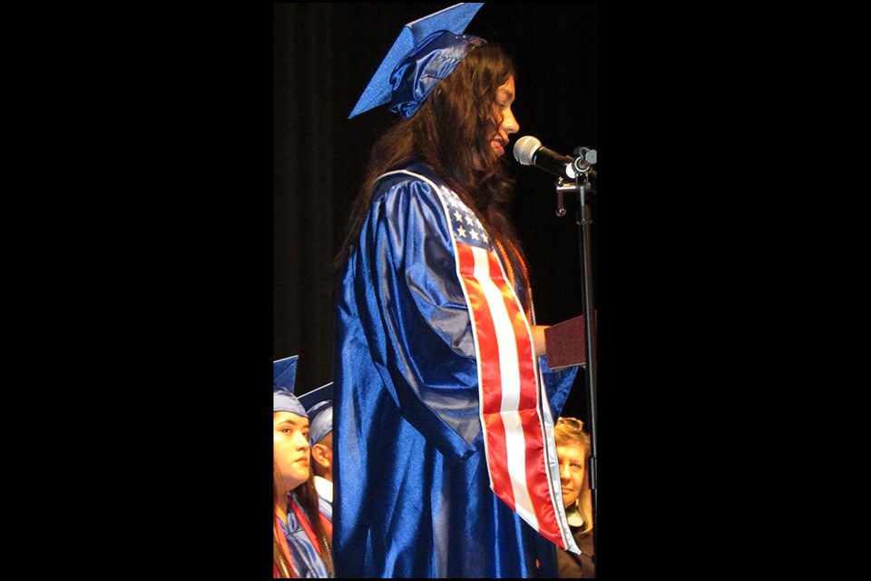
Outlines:
<svg viewBox="0 0 871 581"><path fill-rule="evenodd" d="M390 103L408 119L435 84L451 74L468 49L484 41L463 34L483 2L465 2L403 26L348 119Z"/></svg>

